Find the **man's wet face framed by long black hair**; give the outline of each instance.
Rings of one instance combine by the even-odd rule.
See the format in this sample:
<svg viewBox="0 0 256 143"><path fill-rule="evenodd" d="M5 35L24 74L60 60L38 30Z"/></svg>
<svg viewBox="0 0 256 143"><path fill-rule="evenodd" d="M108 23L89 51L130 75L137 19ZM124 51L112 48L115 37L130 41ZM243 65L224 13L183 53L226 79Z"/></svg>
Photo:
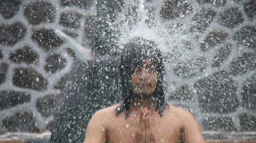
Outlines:
<svg viewBox="0 0 256 143"><path fill-rule="evenodd" d="M156 66L147 59L143 66L134 67L134 73L131 75L131 87L136 95L153 94L157 87Z"/></svg>

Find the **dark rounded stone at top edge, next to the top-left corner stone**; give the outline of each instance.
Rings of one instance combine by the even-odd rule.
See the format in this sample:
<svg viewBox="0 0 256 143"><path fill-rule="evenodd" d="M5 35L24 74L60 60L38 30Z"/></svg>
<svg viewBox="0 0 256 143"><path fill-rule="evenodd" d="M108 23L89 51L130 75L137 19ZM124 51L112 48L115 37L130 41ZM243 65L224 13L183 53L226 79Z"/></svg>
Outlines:
<svg viewBox="0 0 256 143"><path fill-rule="evenodd" d="M30 24L51 23L55 20L56 9L51 3L38 1L24 6L24 16Z"/></svg>

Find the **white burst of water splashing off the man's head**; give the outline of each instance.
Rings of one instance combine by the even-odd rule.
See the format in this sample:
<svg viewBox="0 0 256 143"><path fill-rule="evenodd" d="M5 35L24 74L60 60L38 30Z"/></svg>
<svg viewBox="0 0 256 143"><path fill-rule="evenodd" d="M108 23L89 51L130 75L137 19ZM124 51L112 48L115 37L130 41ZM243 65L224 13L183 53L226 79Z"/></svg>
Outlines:
<svg viewBox="0 0 256 143"><path fill-rule="evenodd" d="M186 25L173 29L170 25L176 25L176 23L155 19L152 16L155 11L146 8L144 0L138 0L135 5L128 5L127 7L128 10L123 11L117 18L118 26L116 29L120 31L120 36L116 43L121 48L119 51L133 37L142 37L156 42L163 53L165 62L168 63L201 55L199 49L187 48L186 44L190 43L191 35L182 32Z"/></svg>

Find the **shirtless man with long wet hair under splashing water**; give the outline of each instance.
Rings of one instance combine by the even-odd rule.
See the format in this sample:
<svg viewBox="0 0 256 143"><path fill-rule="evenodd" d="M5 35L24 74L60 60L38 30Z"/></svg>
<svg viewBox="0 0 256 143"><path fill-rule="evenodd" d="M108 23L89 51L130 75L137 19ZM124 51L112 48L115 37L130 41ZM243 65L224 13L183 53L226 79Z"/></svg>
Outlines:
<svg viewBox="0 0 256 143"><path fill-rule="evenodd" d="M134 38L121 56L123 102L101 109L87 126L84 143L205 143L192 114L165 102L160 50Z"/></svg>

